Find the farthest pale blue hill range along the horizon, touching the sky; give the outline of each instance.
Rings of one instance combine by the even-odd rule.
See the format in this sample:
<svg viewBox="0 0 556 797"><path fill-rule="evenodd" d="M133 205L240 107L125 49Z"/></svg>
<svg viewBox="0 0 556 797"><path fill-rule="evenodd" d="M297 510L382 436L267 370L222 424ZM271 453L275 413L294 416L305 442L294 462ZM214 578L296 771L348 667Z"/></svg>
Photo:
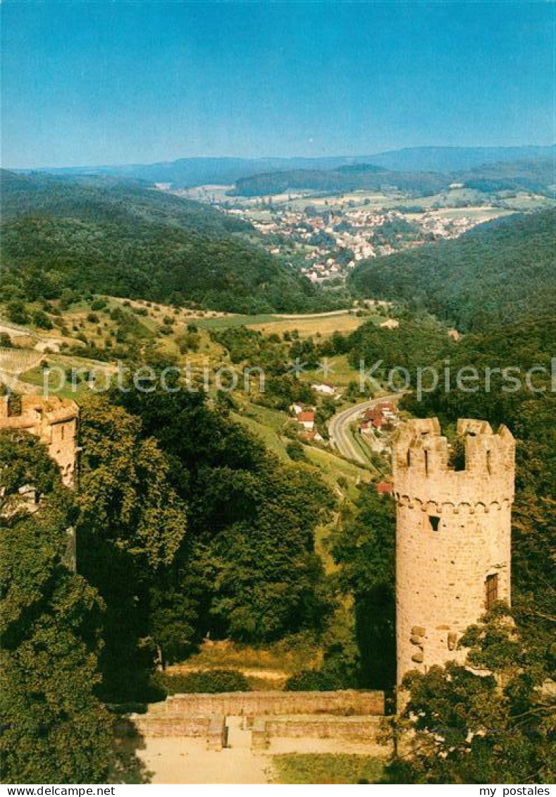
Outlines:
<svg viewBox="0 0 556 797"><path fill-rule="evenodd" d="M459 171L485 163L554 158L554 147L407 147L374 155L339 155L323 158L180 158L161 163L116 166L45 168L60 175L116 175L175 187L205 183L236 183L253 175L275 171L321 171L350 164L371 163L391 171Z"/></svg>

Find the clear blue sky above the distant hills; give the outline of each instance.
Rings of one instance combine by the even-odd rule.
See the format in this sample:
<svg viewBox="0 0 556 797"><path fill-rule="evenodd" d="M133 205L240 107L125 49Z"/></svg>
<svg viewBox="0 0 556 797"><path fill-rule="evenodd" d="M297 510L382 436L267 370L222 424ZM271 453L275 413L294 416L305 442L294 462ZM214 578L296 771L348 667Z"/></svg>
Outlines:
<svg viewBox="0 0 556 797"><path fill-rule="evenodd" d="M551 2L0 8L7 167L554 142Z"/></svg>

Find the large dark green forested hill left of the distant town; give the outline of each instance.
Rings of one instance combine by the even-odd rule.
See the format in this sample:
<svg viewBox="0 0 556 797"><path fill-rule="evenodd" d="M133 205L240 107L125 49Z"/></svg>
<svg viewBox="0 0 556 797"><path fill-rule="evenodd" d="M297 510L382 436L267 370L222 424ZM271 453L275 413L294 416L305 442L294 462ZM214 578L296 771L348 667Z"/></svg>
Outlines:
<svg viewBox="0 0 556 797"><path fill-rule="evenodd" d="M2 205L5 296L53 299L71 289L230 312L338 306L338 296L311 285L235 234L225 214L197 202L135 185L97 187L3 172Z"/></svg>

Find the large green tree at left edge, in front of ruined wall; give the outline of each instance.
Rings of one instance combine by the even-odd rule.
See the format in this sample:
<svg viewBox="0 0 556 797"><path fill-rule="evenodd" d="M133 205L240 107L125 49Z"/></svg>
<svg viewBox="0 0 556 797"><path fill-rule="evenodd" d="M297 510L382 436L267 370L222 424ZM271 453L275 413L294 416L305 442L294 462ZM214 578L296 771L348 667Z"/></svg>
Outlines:
<svg viewBox="0 0 556 797"><path fill-rule="evenodd" d="M36 438L1 437L10 493L19 483L42 494L33 511L0 515L2 779L104 783L112 721L94 693L103 603L65 565L69 501L56 465Z"/></svg>

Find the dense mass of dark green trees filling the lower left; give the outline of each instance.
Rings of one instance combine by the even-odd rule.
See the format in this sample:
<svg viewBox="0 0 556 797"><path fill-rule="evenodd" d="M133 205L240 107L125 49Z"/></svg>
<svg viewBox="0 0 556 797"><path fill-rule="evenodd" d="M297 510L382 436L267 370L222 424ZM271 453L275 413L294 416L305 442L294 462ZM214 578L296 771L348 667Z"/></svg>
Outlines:
<svg viewBox="0 0 556 797"><path fill-rule="evenodd" d="M314 634L333 605L315 528L335 497L315 468L279 461L224 407L185 391L92 395L80 444L72 492L37 438L0 435L2 748L14 782L103 782L103 704L164 697L157 659L181 660L207 635ZM20 499L29 480L38 511ZM79 575L64 563L70 522Z"/></svg>

